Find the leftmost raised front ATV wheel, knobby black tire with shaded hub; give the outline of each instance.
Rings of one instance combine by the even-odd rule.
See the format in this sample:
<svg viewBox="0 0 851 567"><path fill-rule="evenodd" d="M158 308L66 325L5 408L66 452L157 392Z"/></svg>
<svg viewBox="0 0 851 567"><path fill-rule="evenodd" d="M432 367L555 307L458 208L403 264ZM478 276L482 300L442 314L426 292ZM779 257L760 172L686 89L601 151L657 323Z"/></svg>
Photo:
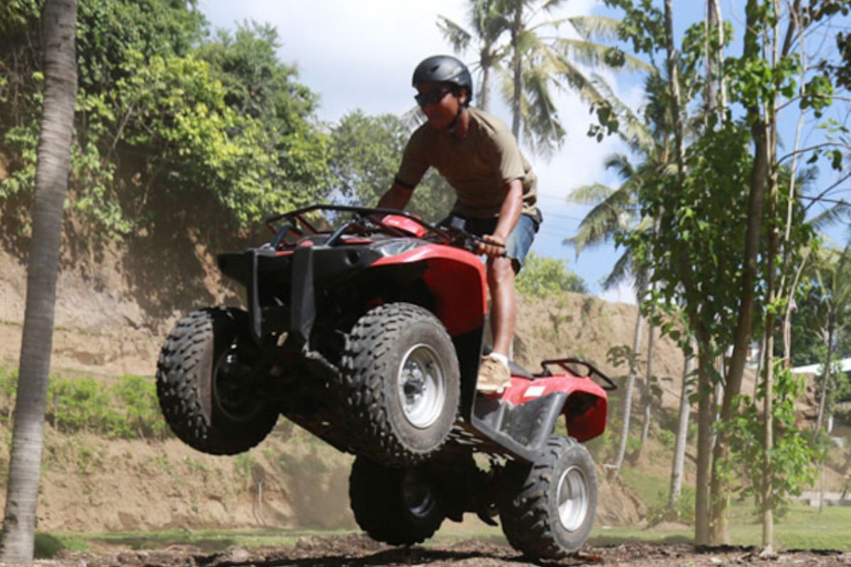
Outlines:
<svg viewBox="0 0 851 567"><path fill-rule="evenodd" d="M241 309L193 311L177 322L160 351L157 397L163 416L197 451L248 451L277 421L277 410L249 384L252 369L240 343L247 325Z"/></svg>

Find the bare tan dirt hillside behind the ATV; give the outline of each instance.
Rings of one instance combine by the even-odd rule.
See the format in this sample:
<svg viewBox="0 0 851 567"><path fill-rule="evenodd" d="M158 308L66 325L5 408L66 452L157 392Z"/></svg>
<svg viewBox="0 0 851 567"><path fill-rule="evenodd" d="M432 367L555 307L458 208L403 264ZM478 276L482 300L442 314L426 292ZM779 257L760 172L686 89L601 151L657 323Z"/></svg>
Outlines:
<svg viewBox="0 0 851 567"><path fill-rule="evenodd" d="M175 261L181 254L190 260ZM20 353L25 290L24 264L0 251L0 363L9 368L16 367ZM77 249L73 258L66 254L60 273L54 371L104 379L152 377L163 337L181 313L238 302L237 290L220 280L212 256L191 239L178 239L162 254L150 245ZM625 371L609 365L606 353L614 345L631 344L636 317L633 305L573 293L522 300L515 358L536 371L540 360L580 356L620 377ZM662 405L674 408L682 354L663 339L656 341L654 357ZM637 404L640 399L637 394ZM611 403L620 403L617 395ZM660 451L651 439L631 466L665 477L670 464L657 457ZM8 462L5 448L0 459ZM109 441L48 428L39 529L352 528L350 464L351 456L283 419L258 448L235 457L203 455L177 440ZM687 481L693 482L691 474L689 465ZM602 468L600 477L599 521L641 523L645 503L620 479L606 480Z"/></svg>

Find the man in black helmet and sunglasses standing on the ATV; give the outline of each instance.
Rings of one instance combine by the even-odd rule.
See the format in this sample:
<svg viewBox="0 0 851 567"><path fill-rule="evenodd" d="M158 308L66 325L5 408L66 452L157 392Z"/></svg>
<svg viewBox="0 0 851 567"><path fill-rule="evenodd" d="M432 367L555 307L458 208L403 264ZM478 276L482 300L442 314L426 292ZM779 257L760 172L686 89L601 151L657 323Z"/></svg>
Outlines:
<svg viewBox="0 0 851 567"><path fill-rule="evenodd" d="M477 389L498 394L511 384L514 278L540 224L536 178L505 123L470 107L472 79L460 60L429 57L417 65L412 82L427 121L408 140L393 186L378 206L404 209L429 167L454 188L452 214L466 220L466 230L483 236L478 252L488 257L494 349L479 367Z"/></svg>

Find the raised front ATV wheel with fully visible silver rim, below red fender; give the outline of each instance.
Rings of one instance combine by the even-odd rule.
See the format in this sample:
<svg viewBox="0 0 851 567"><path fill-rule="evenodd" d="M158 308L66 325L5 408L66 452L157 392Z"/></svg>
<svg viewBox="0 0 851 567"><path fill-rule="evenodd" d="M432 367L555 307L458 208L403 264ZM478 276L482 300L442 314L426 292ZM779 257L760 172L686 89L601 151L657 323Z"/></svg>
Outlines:
<svg viewBox="0 0 851 567"><path fill-rule="evenodd" d="M395 467L423 462L448 438L458 409L452 339L426 309L381 305L346 337L340 394L357 453Z"/></svg>

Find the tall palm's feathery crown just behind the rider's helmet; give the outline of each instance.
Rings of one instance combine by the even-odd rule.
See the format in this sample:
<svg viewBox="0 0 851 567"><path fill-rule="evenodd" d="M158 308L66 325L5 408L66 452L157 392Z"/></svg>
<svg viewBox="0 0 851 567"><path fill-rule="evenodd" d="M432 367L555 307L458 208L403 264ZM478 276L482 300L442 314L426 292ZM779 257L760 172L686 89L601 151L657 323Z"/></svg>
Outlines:
<svg viewBox="0 0 851 567"><path fill-rule="evenodd" d="M597 16L546 19L562 0L471 0L471 30L440 17L441 29L457 53L464 53L472 39L479 40L477 67L482 71L480 92L489 93L491 70L500 74L502 94L511 105L511 131L532 150L547 155L563 139L552 88L575 90L583 99L605 97L584 67L625 67L650 70L635 57L595 39L616 35L617 20ZM579 38L564 37L561 26L570 26ZM546 32L546 33L545 33ZM500 43L503 37L508 43ZM599 79L597 78L597 81ZM488 102L488 94L484 95ZM484 107L483 107L484 108Z"/></svg>

